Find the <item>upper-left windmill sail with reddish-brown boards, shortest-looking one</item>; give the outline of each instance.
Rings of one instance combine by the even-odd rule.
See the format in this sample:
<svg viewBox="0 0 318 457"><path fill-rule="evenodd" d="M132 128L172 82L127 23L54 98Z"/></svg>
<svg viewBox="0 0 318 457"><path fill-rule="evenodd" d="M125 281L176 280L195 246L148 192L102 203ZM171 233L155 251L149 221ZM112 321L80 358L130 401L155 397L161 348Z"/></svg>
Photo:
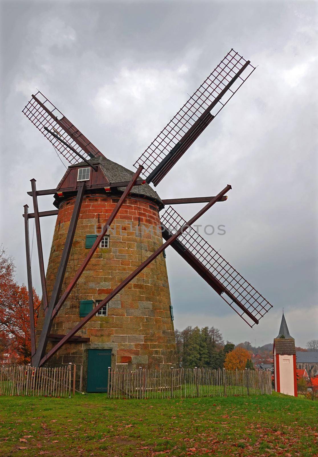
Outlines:
<svg viewBox="0 0 318 457"><path fill-rule="evenodd" d="M60 136L85 159L105 157L40 91L35 96L32 95L22 112L70 164L77 164L81 159L57 138L50 135L44 127Z"/></svg>

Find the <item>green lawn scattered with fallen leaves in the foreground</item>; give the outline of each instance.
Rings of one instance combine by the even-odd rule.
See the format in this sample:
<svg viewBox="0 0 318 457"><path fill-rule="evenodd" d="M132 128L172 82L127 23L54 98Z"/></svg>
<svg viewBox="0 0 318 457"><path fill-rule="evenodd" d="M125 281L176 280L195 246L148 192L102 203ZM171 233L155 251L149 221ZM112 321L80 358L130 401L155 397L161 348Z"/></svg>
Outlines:
<svg viewBox="0 0 318 457"><path fill-rule="evenodd" d="M275 393L173 400L0 397L0 456L309 457L318 455L317 419L318 402Z"/></svg>

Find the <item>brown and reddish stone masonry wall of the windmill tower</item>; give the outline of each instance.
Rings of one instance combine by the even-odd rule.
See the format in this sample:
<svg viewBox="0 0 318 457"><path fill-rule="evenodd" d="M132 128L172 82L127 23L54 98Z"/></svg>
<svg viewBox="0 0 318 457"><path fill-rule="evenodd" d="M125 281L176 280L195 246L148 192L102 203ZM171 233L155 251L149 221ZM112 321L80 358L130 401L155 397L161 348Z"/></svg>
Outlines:
<svg viewBox="0 0 318 457"><path fill-rule="evenodd" d="M56 220L51 254L46 272L50 297L62 255L75 198L61 203ZM118 198L105 195L84 196L62 292L88 253L87 234L100 232ZM138 225L139 224L139 225ZM144 230L142 228L144 226ZM80 300L102 300L140 263L162 244L158 208L144 199L129 198L121 207L109 232L108 249L98 248L77 286L57 314L51 333L66 334L81 320ZM152 233L151 233L152 228ZM170 293L166 264L160 254L108 304L108 316L95 316L78 333L90 343L64 345L51 365L69 362L83 364L85 378L87 349L112 349L112 367L128 364L159 367L176 363L174 326L170 316ZM41 310L36 329L43 325ZM49 343L48 350L53 346ZM84 379L85 382L85 379Z"/></svg>

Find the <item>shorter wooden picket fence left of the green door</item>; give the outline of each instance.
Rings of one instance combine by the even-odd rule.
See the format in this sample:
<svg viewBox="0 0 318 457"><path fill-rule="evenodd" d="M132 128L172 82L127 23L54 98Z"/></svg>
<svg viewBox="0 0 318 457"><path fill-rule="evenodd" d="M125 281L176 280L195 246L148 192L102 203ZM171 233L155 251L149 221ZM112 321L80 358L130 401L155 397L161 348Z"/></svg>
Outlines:
<svg viewBox="0 0 318 457"><path fill-rule="evenodd" d="M26 365L0 366L0 395L71 397L71 365L34 368Z"/></svg>

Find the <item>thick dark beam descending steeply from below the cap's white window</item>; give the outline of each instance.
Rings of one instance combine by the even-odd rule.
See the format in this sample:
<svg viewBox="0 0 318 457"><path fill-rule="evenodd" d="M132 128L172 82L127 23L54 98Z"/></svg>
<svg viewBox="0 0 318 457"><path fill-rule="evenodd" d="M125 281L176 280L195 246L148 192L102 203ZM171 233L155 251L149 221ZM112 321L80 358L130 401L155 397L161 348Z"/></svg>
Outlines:
<svg viewBox="0 0 318 457"><path fill-rule="evenodd" d="M78 220L78 216L79 216L79 213L81 210L82 200L83 200L83 196L84 196L84 189L85 189L85 183L81 182L81 184L78 187L77 197L76 197L75 204L74 204L71 222L68 227L65 245L64 245L64 249L63 249L61 260L60 260L60 265L57 270L56 279L55 279L55 283L53 286L48 310L47 310L47 313L46 313L46 316L44 319L44 324L43 324L43 328L41 331L38 347L36 350L36 354L33 357L34 360L32 363L35 367L39 366L39 362L40 362L41 358L43 357L45 350L46 350L47 338L48 338L48 335L49 335L51 327L52 327L51 316L52 316L53 309L56 305L56 302L61 293L63 279L64 279L65 271L67 268L67 262L68 262L68 259L69 259L70 253L71 253L71 249L72 249L72 243L73 243L75 230L76 230L76 226L77 226L77 220Z"/></svg>

